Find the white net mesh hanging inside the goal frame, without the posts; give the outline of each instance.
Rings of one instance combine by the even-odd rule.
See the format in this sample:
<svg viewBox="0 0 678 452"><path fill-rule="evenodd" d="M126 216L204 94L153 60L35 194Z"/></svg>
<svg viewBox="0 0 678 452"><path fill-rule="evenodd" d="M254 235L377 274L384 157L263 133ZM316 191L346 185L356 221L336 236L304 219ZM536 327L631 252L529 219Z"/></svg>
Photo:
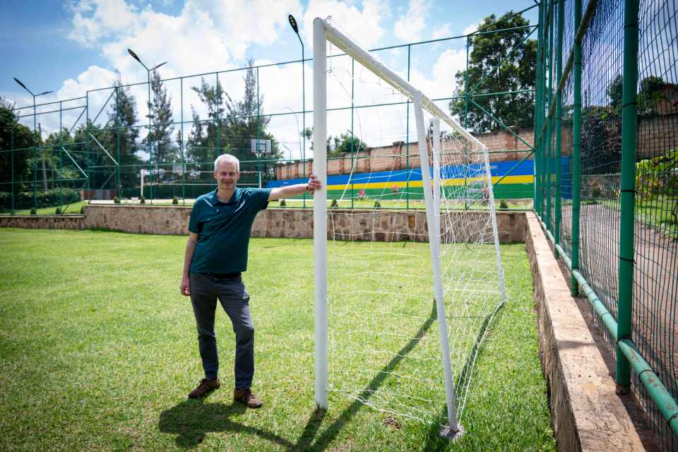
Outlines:
<svg viewBox="0 0 678 452"><path fill-rule="evenodd" d="M424 112L427 159L422 159L412 99L349 57L330 61L328 93L342 93L345 99L328 95L328 110L332 101L350 103L356 92L361 97L353 105L381 107L351 109L350 118L328 112L328 134L345 130L350 119L369 148L402 145L394 155L357 153L342 195L328 208L329 389L399 421L446 422L428 244L434 231L441 241L434 257L441 263L459 419L470 395L478 345L502 300L486 151L445 125L439 147L434 146L434 118ZM400 157L409 158L411 169L398 169ZM434 186L422 182L422 160L430 162ZM406 199L423 207L424 189L432 190L436 201L434 227L427 224L424 209L401 208ZM372 208L343 208L357 201Z"/></svg>

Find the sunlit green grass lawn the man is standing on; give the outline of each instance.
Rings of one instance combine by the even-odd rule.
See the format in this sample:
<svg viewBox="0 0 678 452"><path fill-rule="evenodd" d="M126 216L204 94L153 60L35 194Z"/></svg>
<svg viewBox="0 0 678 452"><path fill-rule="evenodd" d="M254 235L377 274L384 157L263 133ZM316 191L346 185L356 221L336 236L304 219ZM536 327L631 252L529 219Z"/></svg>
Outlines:
<svg viewBox="0 0 678 452"><path fill-rule="evenodd" d="M523 245L501 247L509 302L477 358L467 433L451 444L434 424L388 420L336 392L327 412L314 412L309 240L251 240L244 280L256 326L254 390L266 405L232 405L234 337L223 311L222 388L187 400L202 371L191 304L179 295L184 244L185 237L0 230L0 450L555 450ZM344 247L331 243L331 253ZM396 349L408 346L395 341ZM380 363L370 363L367 377L377 386ZM440 413L444 405L430 408Z"/></svg>

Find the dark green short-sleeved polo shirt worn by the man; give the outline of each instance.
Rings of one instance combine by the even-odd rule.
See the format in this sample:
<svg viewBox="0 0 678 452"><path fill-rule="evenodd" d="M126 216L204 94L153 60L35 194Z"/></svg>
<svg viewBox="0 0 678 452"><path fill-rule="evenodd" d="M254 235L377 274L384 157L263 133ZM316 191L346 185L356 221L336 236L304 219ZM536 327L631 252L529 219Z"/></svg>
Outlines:
<svg viewBox="0 0 678 452"><path fill-rule="evenodd" d="M198 196L189 231L199 234L191 260L192 273L238 273L247 270L252 223L268 206L270 189L235 188L227 203L217 190Z"/></svg>

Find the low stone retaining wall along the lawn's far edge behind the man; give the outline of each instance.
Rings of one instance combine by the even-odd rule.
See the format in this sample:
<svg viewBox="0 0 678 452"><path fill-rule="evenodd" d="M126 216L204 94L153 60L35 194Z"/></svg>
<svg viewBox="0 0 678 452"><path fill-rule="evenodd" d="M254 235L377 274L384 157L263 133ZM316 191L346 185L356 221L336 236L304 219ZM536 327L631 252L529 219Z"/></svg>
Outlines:
<svg viewBox="0 0 678 452"><path fill-rule="evenodd" d="M177 206L117 206L90 204L85 215L14 215L0 216L0 227L26 227L40 229L102 228L136 234L188 234L190 207ZM442 224L454 222L456 213L444 217ZM472 212L472 216L486 213ZM501 243L523 242L525 214L523 212L498 212L497 228ZM477 237L477 230L456 230L456 237ZM489 232L489 231L486 231ZM252 225L252 237L313 237L312 209L262 210ZM391 240L428 241L424 211L384 210L329 210L328 238L338 240Z"/></svg>

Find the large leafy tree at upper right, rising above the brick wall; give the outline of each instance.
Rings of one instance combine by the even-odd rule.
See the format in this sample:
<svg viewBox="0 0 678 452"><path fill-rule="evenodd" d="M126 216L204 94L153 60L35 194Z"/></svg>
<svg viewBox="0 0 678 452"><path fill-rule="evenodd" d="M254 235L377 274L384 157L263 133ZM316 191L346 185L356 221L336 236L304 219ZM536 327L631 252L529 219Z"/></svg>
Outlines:
<svg viewBox="0 0 678 452"><path fill-rule="evenodd" d="M480 25L484 32L509 28L512 30L470 35L468 74L467 71L457 71L455 75L455 97L460 98L449 103L450 112L458 115L460 123L466 124L475 133L498 130L501 124L470 100L466 114L464 96L467 94L467 75L468 95L496 119L500 119L506 126L534 126L534 92L516 92L535 89L537 41L525 40L521 44L523 38L530 34L530 29L518 28L529 25L530 21L521 14L509 18L511 15L513 11L505 13L499 20L494 14L484 18ZM473 90L485 76L487 78ZM487 95L506 92L512 94ZM475 97L480 94L487 96Z"/></svg>

